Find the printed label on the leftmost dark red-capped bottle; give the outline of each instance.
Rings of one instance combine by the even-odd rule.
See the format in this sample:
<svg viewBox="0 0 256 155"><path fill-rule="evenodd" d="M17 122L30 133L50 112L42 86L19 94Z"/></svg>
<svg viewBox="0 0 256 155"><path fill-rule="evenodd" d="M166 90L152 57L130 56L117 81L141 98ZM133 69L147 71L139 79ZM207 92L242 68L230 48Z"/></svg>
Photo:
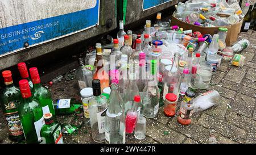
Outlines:
<svg viewBox="0 0 256 155"><path fill-rule="evenodd" d="M23 134L18 111L5 114L5 118L10 131L10 135L20 136Z"/></svg>

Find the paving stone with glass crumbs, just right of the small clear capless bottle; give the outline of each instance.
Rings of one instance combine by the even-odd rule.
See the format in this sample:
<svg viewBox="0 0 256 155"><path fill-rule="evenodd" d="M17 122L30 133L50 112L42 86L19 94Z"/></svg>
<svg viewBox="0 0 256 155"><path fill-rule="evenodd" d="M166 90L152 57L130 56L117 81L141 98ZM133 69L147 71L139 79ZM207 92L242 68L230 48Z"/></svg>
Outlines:
<svg viewBox="0 0 256 155"><path fill-rule="evenodd" d="M164 134L166 133L166 134ZM185 139L184 135L167 128L164 124L147 119L146 135L159 143L182 143Z"/></svg>

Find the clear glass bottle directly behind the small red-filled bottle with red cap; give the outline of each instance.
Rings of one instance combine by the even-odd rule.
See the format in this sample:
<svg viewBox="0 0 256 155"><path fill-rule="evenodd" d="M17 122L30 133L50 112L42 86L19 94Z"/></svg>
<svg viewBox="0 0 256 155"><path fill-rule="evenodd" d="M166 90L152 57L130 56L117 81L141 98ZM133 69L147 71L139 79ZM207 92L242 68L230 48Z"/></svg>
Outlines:
<svg viewBox="0 0 256 155"><path fill-rule="evenodd" d="M136 74L129 74L129 86L123 95L123 101L125 102L125 116L127 111L133 106L133 99L135 95L139 95L139 89L136 83Z"/></svg>

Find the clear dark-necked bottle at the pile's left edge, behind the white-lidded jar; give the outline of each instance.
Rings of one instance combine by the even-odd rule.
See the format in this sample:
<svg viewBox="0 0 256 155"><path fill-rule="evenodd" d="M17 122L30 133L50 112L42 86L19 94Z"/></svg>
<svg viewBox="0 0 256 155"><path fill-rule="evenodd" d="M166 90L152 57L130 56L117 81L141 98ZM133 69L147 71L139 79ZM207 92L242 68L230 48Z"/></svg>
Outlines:
<svg viewBox="0 0 256 155"><path fill-rule="evenodd" d="M84 65L84 59L79 58L79 68L77 68L75 74L77 79L77 84L79 89L82 90L86 87L92 87L92 78L93 78L93 66Z"/></svg>

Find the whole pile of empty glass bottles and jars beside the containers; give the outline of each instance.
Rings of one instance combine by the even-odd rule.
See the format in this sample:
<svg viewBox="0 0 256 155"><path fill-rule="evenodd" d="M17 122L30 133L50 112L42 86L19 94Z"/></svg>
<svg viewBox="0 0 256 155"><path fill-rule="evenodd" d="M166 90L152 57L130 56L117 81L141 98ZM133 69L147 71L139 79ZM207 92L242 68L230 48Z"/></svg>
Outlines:
<svg viewBox="0 0 256 155"><path fill-rule="evenodd" d="M230 1L231 4L213 1L179 3L174 15L190 24L225 26L242 19L247 10L241 10L237 1ZM8 122L12 140L26 138L27 143L64 143L61 132L73 134L81 124L60 124L56 115L80 114L81 111L96 143L125 143L127 134L142 140L146 136L145 118L155 118L160 112L166 117L176 117L182 125L189 125L193 113L207 110L220 101L216 90L198 97L195 97L195 90L209 88L222 60L242 67L246 57L237 52L250 44L242 39L227 47L227 28L218 28L214 35L183 30L171 26L170 21L162 22L160 12L154 26L151 27L151 20L146 20L141 35L131 30L126 33L122 20L119 28L112 44L97 43L95 51L79 58L75 75L66 74L49 82L54 85L63 78L75 78L82 103L76 99L52 100L49 90L40 84L38 69L30 68L29 77L24 63L18 65L23 78L19 88L13 85L10 70L2 73L6 89L1 102L7 107L3 112L6 118L15 115L16 119ZM179 99L182 101L177 109ZM159 111L161 106L163 111Z"/></svg>

